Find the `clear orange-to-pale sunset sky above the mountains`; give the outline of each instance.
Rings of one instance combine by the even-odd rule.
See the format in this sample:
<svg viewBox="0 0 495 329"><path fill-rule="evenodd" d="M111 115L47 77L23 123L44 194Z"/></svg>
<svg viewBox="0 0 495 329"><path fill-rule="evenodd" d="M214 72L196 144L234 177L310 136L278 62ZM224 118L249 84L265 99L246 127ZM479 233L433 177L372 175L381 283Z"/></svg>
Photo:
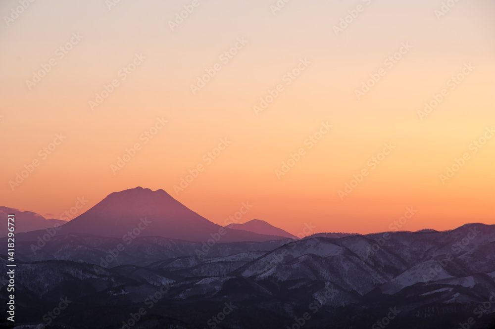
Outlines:
<svg viewBox="0 0 495 329"><path fill-rule="evenodd" d="M1 1L0 205L141 186L295 235L495 224L494 10Z"/></svg>

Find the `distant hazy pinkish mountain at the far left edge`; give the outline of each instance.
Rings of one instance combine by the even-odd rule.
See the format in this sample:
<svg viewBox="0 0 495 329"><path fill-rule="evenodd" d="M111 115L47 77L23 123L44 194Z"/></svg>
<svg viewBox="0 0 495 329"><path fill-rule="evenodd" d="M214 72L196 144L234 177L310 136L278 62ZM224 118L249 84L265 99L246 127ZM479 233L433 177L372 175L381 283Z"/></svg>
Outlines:
<svg viewBox="0 0 495 329"><path fill-rule="evenodd" d="M15 208L0 207L0 220L7 223L8 214L15 214L15 233L29 232L34 230L45 230L55 225L63 225L66 221L58 219L46 219L40 214L32 211L20 211ZM7 224L0 226L0 237L7 236Z"/></svg>

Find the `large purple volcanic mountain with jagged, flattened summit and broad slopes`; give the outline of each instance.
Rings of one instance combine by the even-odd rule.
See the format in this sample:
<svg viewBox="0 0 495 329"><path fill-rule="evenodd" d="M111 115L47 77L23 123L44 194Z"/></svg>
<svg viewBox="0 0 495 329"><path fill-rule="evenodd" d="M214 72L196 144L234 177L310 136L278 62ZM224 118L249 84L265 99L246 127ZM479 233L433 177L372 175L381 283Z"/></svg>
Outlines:
<svg viewBox="0 0 495 329"><path fill-rule="evenodd" d="M175 200L162 189L132 188L109 194L93 208L65 224L59 234L106 237L163 236L189 241L267 241L284 236L223 228ZM223 233L223 234L222 234Z"/></svg>

